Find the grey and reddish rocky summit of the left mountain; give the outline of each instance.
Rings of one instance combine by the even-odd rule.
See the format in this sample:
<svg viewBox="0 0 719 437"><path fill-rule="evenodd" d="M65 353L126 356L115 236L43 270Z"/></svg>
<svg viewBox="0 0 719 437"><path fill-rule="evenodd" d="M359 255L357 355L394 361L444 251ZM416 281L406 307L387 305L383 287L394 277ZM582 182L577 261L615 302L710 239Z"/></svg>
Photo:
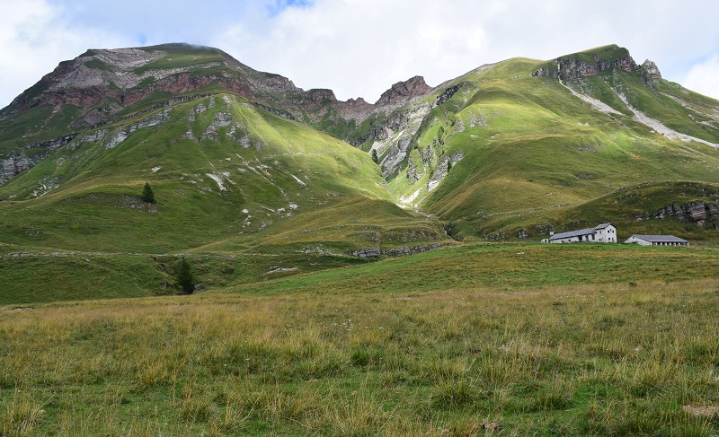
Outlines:
<svg viewBox="0 0 719 437"><path fill-rule="evenodd" d="M170 62L172 53L178 49L212 60L173 67L156 64L160 60ZM193 92L209 83L220 83L228 91L251 99L299 90L288 78L257 72L216 48L169 44L155 48L94 49L61 62L1 110L0 119L39 105L49 104L57 110L69 104L88 109L83 121L85 126L92 126L157 92ZM102 111L92 110L98 105Z"/></svg>

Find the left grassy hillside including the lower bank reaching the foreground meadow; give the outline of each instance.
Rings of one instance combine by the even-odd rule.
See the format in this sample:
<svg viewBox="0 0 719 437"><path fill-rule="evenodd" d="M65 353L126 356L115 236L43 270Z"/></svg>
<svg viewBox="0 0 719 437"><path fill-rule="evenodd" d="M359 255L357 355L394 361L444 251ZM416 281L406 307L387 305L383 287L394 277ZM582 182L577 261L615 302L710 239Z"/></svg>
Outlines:
<svg viewBox="0 0 719 437"><path fill-rule="evenodd" d="M356 264L354 249L447 239L437 222L394 205L368 153L226 99L174 106L169 120L110 150L78 137L0 188L0 276L18 284L0 301L173 293L173 263L155 254L190 254L213 287ZM231 126L201 139L219 113ZM230 138L233 126L252 147ZM59 187L33 197L49 180ZM146 181L156 205L139 199ZM31 255L8 260L22 252Z"/></svg>

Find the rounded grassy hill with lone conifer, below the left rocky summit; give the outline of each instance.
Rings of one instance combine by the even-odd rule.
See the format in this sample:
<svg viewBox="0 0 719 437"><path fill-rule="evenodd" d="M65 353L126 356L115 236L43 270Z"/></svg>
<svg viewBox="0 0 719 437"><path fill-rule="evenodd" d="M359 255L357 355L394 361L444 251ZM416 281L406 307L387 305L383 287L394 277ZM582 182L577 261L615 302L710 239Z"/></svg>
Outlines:
<svg viewBox="0 0 719 437"><path fill-rule="evenodd" d="M162 114L165 121L108 145L116 132ZM0 188L4 242L164 253L237 249L283 233L295 249L324 244L346 255L376 246L371 232L359 235L363 226L381 238L417 224L427 235L408 240L443 238L437 224L394 205L368 153L242 99L217 95L104 130L101 140L78 138ZM156 205L139 199L145 182ZM34 198L51 183L58 187Z"/></svg>

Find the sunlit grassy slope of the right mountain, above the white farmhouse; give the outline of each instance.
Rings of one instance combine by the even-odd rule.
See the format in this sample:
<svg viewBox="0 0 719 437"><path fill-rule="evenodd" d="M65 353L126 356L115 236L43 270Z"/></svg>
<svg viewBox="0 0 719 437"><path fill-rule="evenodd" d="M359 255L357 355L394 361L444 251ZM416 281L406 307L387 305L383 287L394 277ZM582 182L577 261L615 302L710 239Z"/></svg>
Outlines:
<svg viewBox="0 0 719 437"><path fill-rule="evenodd" d="M423 199L427 211L446 220L475 222L470 232L479 229L484 233L545 223L564 225L555 214L563 208L556 205L581 205L626 186L719 182L715 149L653 133L630 118L632 111L610 86L624 92L633 107L661 119L666 126L719 142L719 131L706 126L710 118L697 112L715 112L716 101L661 80L657 85L660 92L652 92L638 76L623 71L572 84L626 114L610 117L591 109L555 79L530 76L542 65L540 61L512 59L457 79L471 85L434 109L435 122L422 133L418 145L424 149L434 144L439 156L461 152L465 157L429 195L426 183L432 166L424 169L425 176L414 185L400 175L392 181L398 197L408 197L421 188L418 198ZM686 100L684 106L667 94ZM690 115L707 123L697 124ZM457 128L457 119L464 130ZM473 122L477 126L471 127ZM440 138L444 145L438 147ZM409 159L422 169L419 151L413 150ZM675 199L664 200L670 205ZM613 221L626 217L625 211L616 212Z"/></svg>

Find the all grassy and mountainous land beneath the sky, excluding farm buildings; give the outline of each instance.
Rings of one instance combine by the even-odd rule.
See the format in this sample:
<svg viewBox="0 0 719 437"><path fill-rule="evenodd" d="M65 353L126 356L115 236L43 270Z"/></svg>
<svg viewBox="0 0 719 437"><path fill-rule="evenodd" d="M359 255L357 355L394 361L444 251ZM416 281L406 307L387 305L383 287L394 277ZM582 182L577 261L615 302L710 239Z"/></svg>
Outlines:
<svg viewBox="0 0 719 437"><path fill-rule="evenodd" d="M87 50L0 109L0 435L715 436L718 149L615 45L374 103Z"/></svg>

